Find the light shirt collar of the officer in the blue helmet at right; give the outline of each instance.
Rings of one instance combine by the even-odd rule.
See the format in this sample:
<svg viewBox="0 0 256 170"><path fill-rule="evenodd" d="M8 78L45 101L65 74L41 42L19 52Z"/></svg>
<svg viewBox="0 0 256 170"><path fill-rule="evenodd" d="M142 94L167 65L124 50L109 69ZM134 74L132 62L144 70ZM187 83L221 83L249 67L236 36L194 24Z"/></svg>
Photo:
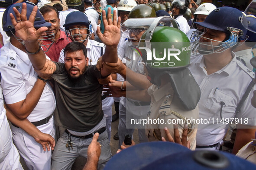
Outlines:
<svg viewBox="0 0 256 170"><path fill-rule="evenodd" d="M224 66L222 69L218 70L217 72L214 72L213 74L217 73L217 74L220 74L222 72L226 72L227 73L227 76L231 75L232 72L234 71L234 69L236 69L235 66L233 65L236 65L237 64L237 59L236 59L236 54L234 52L231 53L233 59L230 61L230 63L228 63L226 66ZM199 67L201 67L203 70L204 67L205 67L205 64L204 64L204 57L203 56L198 56L198 60L195 60L194 62L194 65L198 65ZM207 75L207 72L205 71L206 75Z"/></svg>

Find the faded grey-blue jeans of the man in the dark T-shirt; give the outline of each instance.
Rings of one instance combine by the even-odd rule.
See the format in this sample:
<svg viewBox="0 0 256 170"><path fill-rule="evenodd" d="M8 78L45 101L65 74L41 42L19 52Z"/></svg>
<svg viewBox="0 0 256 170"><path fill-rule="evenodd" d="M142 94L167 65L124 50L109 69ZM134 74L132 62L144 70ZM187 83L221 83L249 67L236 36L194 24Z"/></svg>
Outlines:
<svg viewBox="0 0 256 170"><path fill-rule="evenodd" d="M68 142L68 134L64 132L62 137L58 139L58 142L52 153L52 170L70 170L74 164L76 158L79 156L87 158L87 149L92 141L89 139L80 139L71 136L71 142L74 144L73 149L66 148ZM97 140L101 145L100 159L98 163L98 170L104 169L107 161L112 157L110 150L110 143L107 137L107 131L101 133Z"/></svg>

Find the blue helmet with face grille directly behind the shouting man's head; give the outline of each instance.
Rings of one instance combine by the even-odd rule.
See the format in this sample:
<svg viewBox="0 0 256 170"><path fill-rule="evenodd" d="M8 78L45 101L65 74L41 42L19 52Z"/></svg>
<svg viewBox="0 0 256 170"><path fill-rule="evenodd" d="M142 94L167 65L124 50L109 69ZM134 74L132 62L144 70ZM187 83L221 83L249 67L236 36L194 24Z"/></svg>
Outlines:
<svg viewBox="0 0 256 170"><path fill-rule="evenodd" d="M79 31L78 35L72 35L72 33L71 33L71 31L73 29L70 29L69 27L71 25L77 25L77 24L86 26L86 28L78 28L78 29L79 30L87 29L87 34L86 34L87 38L85 40L89 39L91 37L91 33L92 33L92 25L91 25L91 22L88 20L87 16L80 11L73 11L73 12L69 13L66 17L65 24L63 26L65 27L65 33L67 35L67 39L70 38L71 40L72 39L74 40L73 36L82 35L82 34L80 34L80 31ZM69 39L68 39L68 41L69 41ZM82 40L80 40L80 41L82 41Z"/></svg>

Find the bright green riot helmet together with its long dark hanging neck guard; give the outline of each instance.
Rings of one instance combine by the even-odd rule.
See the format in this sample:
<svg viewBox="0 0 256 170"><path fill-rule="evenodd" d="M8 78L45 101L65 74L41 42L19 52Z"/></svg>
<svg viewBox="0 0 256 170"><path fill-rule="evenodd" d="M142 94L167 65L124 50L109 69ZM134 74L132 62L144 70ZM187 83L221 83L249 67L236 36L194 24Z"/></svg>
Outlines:
<svg viewBox="0 0 256 170"><path fill-rule="evenodd" d="M170 79L184 109L192 110L197 106L201 94L188 69L191 51L188 37L177 28L157 25L153 22L141 38L138 46L143 58L141 64L146 67L151 83L160 87L160 77Z"/></svg>

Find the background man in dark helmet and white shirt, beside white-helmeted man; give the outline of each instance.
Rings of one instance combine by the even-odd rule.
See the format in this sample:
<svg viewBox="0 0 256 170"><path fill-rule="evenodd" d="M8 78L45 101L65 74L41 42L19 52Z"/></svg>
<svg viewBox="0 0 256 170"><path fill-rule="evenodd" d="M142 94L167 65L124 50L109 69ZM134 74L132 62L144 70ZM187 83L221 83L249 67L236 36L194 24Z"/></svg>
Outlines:
<svg viewBox="0 0 256 170"><path fill-rule="evenodd" d="M187 9L188 0L174 0L172 2L172 16L178 23L180 30L185 34L190 30L187 19L183 17L183 14L186 13Z"/></svg>

